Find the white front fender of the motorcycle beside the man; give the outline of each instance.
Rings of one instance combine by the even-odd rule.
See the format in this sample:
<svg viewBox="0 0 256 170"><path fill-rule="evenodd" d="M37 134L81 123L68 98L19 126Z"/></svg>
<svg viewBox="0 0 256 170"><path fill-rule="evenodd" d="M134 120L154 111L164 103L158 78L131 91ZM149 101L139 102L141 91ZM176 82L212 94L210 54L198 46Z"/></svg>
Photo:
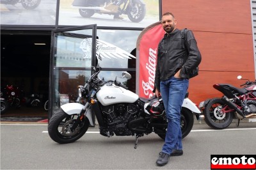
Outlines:
<svg viewBox="0 0 256 170"><path fill-rule="evenodd" d="M68 104L61 105L61 109L68 115L79 114L83 110L83 108L84 108L84 105L78 104L78 103L68 103ZM91 110L88 110L86 112L86 117L90 121L90 125L94 126L92 121Z"/></svg>

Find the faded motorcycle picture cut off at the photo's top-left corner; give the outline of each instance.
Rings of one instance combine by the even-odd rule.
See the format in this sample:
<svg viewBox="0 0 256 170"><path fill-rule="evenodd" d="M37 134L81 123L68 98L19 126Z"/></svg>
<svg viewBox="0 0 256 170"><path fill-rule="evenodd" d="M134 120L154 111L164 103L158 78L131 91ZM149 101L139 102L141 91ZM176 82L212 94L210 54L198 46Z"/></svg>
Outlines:
<svg viewBox="0 0 256 170"><path fill-rule="evenodd" d="M21 3L26 10L33 10L41 3L41 0L0 0L0 3L12 5Z"/></svg>

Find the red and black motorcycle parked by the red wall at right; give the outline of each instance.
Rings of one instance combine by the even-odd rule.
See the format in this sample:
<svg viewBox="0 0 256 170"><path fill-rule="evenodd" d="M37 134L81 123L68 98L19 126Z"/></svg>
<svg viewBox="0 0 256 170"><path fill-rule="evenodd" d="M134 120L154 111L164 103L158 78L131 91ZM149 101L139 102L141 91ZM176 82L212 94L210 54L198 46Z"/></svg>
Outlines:
<svg viewBox="0 0 256 170"><path fill-rule="evenodd" d="M242 76L237 76L242 79ZM256 118L256 81L246 80L243 88L230 84L214 84L213 87L223 93L221 98L207 99L199 107L204 114L205 123L214 129L227 128L233 118Z"/></svg>

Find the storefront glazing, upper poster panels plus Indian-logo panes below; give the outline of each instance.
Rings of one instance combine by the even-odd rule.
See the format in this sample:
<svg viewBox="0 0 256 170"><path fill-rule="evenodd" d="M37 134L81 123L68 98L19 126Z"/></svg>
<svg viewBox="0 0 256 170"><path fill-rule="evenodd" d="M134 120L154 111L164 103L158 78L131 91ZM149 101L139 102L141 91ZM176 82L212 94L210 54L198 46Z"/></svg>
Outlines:
<svg viewBox="0 0 256 170"><path fill-rule="evenodd" d="M8 1L1 3L1 29L55 30L52 31L49 75L50 116L60 105L76 100L77 86L84 85L92 74L92 66L98 63L102 67L99 75L102 79L117 77L131 91L136 91L136 40L144 27L159 20L161 1L22 2L17 1L15 6ZM101 3L106 4L104 9ZM86 13L91 12L86 8L92 5L95 13L86 17ZM109 9L112 11L106 12ZM117 13L118 20L115 19ZM85 25L90 28L80 29ZM124 71L131 73L132 79L120 78Z"/></svg>

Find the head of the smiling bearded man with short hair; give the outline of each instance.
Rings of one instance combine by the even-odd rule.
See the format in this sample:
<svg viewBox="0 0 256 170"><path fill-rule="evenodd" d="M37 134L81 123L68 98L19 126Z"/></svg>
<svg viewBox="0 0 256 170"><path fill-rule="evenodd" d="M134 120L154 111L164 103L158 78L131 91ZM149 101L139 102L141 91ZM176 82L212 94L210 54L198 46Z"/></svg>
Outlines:
<svg viewBox="0 0 256 170"><path fill-rule="evenodd" d="M166 33L172 33L177 24L177 20L175 19L174 15L170 12L166 12L162 15L162 26Z"/></svg>

